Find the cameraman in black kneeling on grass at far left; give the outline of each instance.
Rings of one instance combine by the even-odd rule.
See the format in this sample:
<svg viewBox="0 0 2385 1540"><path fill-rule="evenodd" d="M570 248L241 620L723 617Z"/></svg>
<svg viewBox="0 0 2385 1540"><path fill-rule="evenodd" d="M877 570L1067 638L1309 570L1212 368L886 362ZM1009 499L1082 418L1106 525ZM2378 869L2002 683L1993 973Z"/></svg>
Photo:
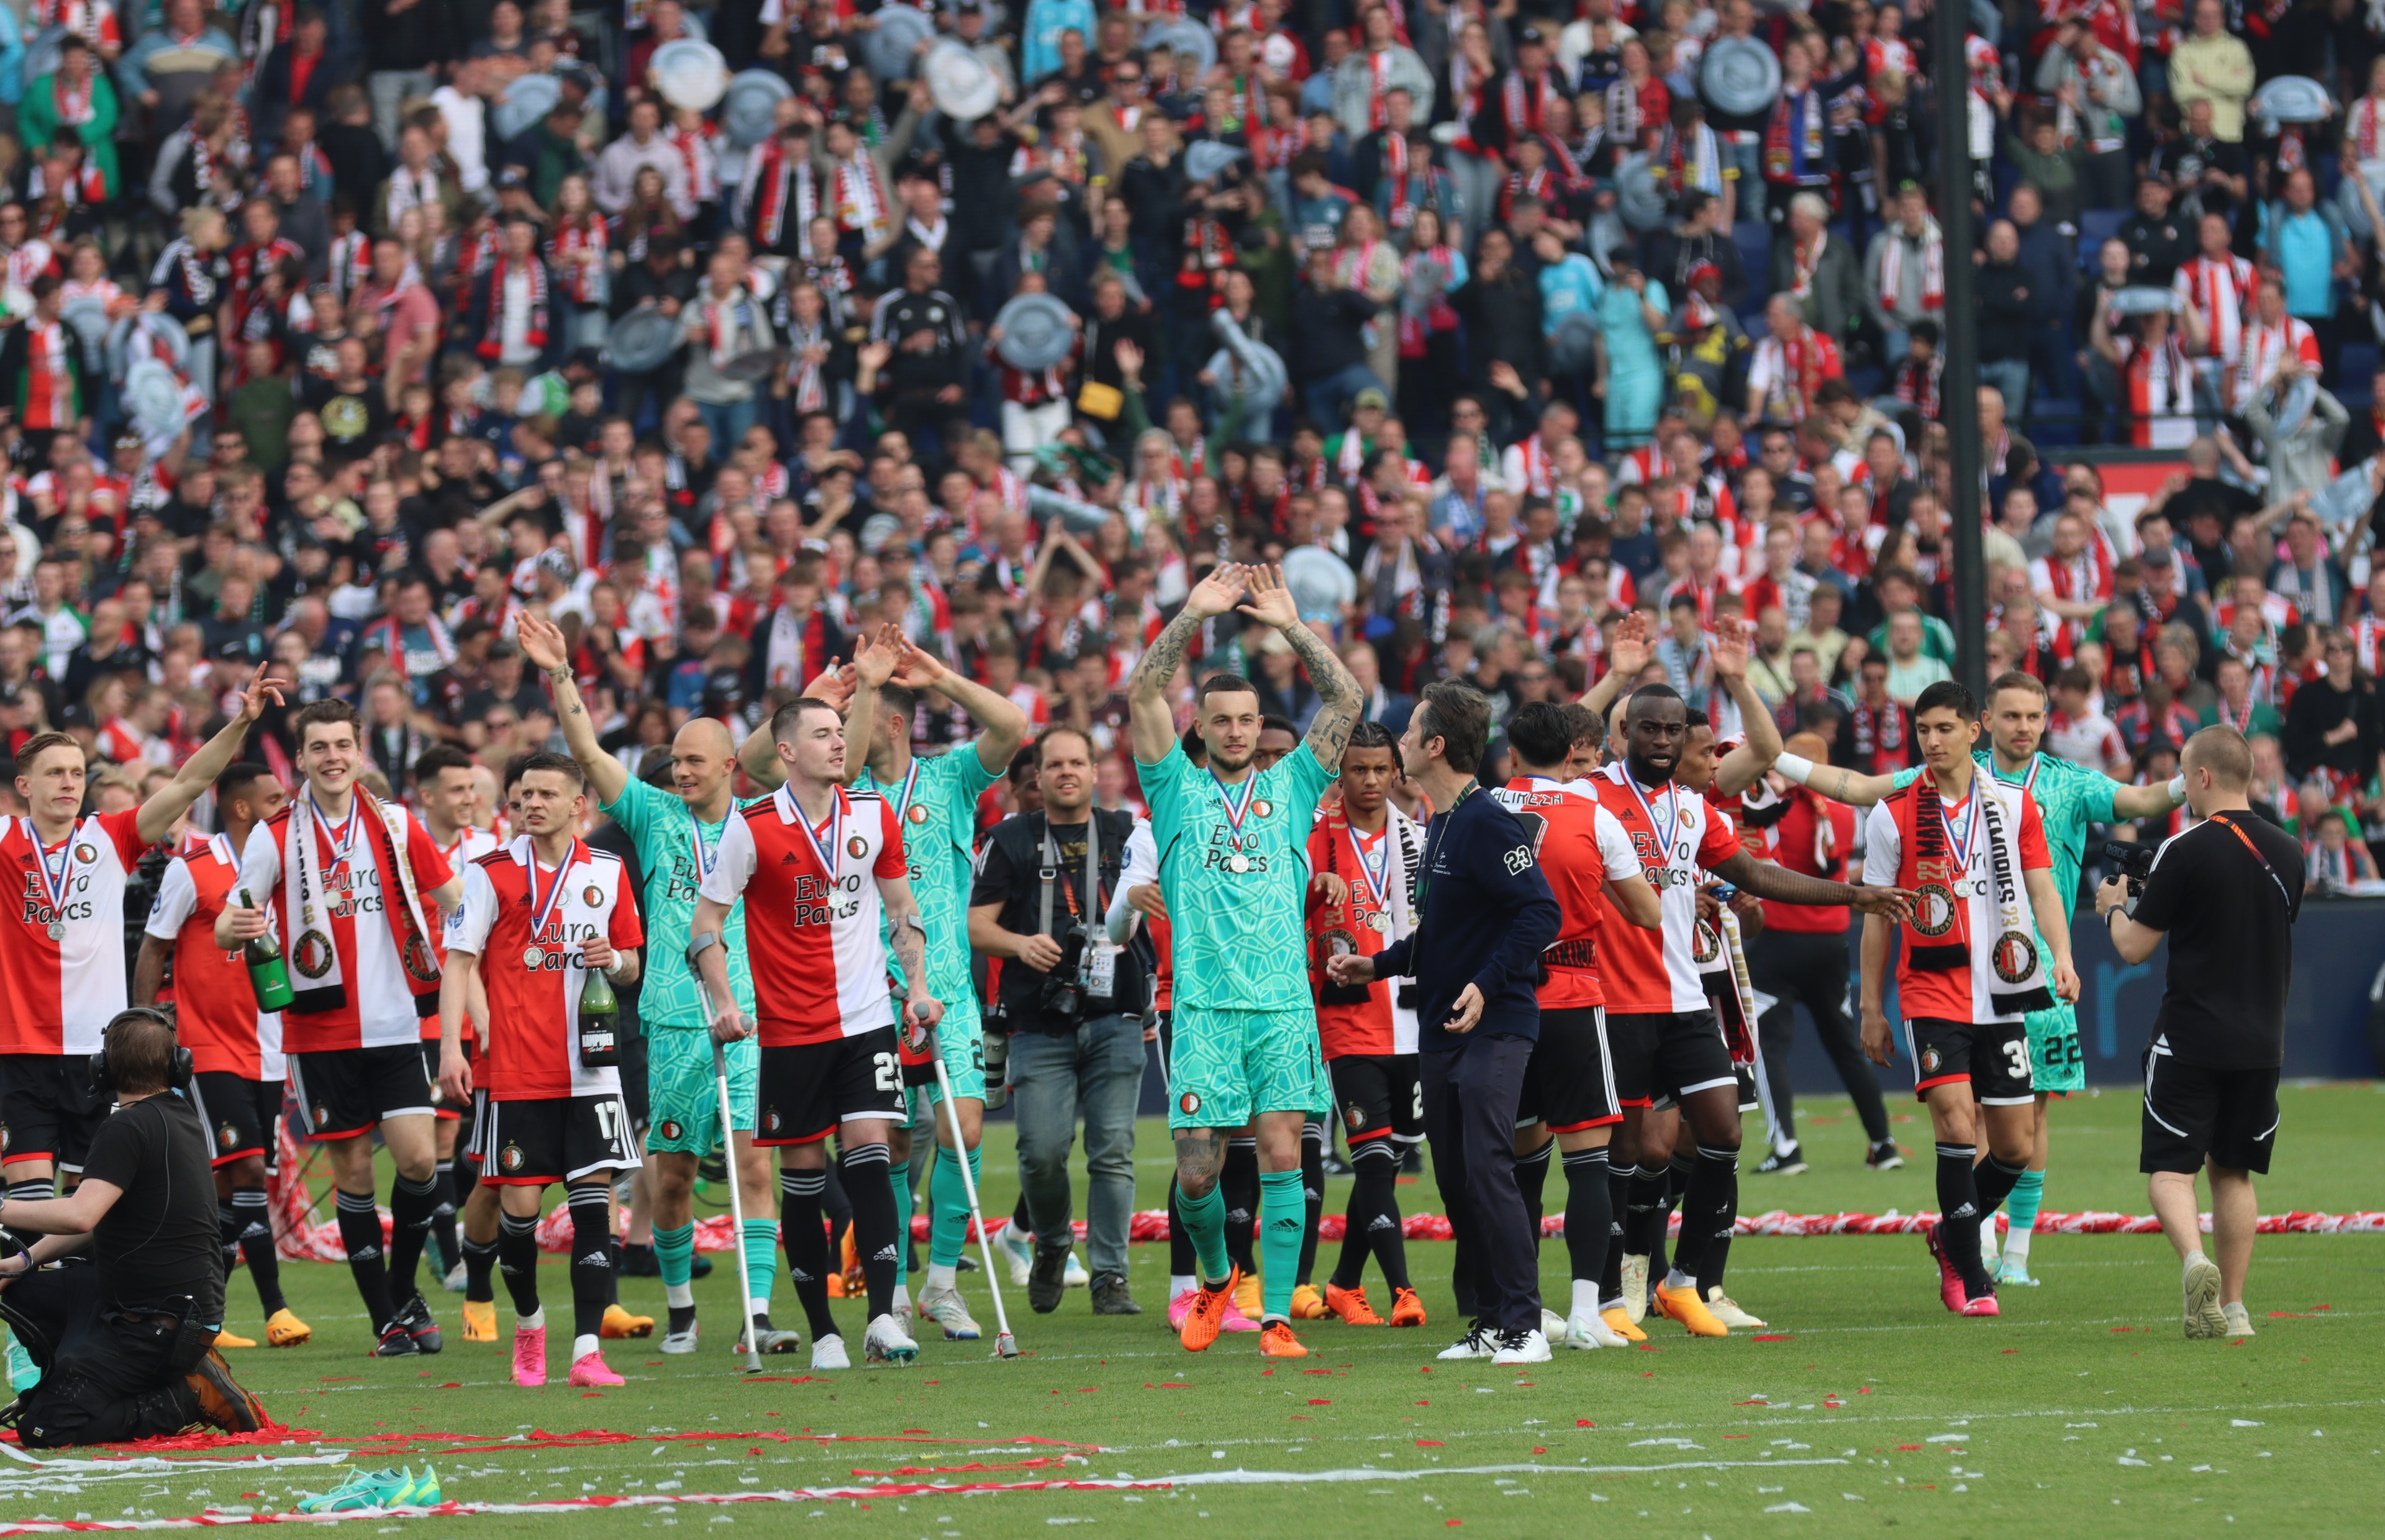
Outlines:
<svg viewBox="0 0 2385 1540"><path fill-rule="evenodd" d="M117 1106L91 1137L81 1187L0 1201L0 1232L43 1237L0 1259L0 1318L43 1371L5 1416L29 1449L193 1423L255 1433L265 1404L212 1347L224 1261L210 1142L172 1089L188 1085L191 1061L172 1018L145 1006L110 1020L103 1044L93 1092Z"/></svg>

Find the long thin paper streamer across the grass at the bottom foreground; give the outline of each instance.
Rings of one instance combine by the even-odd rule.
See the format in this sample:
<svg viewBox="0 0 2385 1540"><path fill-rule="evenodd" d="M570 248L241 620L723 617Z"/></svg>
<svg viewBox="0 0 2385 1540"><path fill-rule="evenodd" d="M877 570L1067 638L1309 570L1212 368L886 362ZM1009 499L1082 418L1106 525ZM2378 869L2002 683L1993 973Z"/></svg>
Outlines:
<svg viewBox="0 0 2385 1540"><path fill-rule="evenodd" d="M62 1535L93 1530L188 1530L234 1523L343 1523L351 1519L470 1519L587 1514L603 1509L739 1507L749 1502L878 1502L885 1497L966 1497L973 1492L1164 1492L1169 1488L1259 1488L1259 1485L1352 1485L1395 1480L1443 1480L1450 1476L1660 1476L1667 1471L1779 1471L1789 1466L1844 1466L1844 1459L1684 1459L1648 1466L1441 1466L1433 1471L1192 1471L1188 1476L1135 1478L1049 1478L1049 1480L968 1480L968 1483L878 1483L849 1488L787 1488L778 1492L630 1492L622 1497L558 1497L551 1502L441 1502L432 1509L355 1509L348 1514L224 1514L205 1511L186 1519L81 1519L81 1521L0 1521L0 1535Z"/></svg>

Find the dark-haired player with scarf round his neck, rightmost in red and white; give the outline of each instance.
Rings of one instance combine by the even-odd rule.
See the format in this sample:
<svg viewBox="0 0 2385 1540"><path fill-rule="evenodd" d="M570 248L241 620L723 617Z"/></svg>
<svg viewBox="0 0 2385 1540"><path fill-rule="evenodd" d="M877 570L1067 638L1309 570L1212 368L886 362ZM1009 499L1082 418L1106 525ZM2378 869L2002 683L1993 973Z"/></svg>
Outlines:
<svg viewBox="0 0 2385 1540"><path fill-rule="evenodd" d="M1872 808L1863 839L1867 884L1910 884L1918 901L1896 965L1913 1094L1937 1135L1941 1223L1929 1228L1939 1297L1960 1316L1994 1316L1996 1285L1980 1263L1989 1221L2030 1166L2032 1080L2025 1016L2075 1001L2070 911L2027 787L1982 775L1977 701L1941 679L1913 701L1925 775ZM2027 930L2025 913L2037 918ZM1863 1051L1889 1063L1882 1008L1894 923L1863 923ZM1987 1161L1980 1135L1987 1135ZM1972 1166L1977 1163L1977 1173Z"/></svg>

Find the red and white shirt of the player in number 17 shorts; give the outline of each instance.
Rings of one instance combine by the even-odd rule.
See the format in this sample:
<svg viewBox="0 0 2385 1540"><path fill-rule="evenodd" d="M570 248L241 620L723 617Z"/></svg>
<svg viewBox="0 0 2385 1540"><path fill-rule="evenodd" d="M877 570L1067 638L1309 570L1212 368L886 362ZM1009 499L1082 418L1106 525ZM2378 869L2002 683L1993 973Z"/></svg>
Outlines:
<svg viewBox="0 0 2385 1540"><path fill-rule="evenodd" d="M620 856L575 839L563 870L532 856L529 834L475 858L463 873L463 906L448 951L479 958L489 987L489 1051L482 1085L491 1101L553 1101L620 1092L620 1070L580 1063L580 944L603 937L615 951L646 944L637 896Z"/></svg>

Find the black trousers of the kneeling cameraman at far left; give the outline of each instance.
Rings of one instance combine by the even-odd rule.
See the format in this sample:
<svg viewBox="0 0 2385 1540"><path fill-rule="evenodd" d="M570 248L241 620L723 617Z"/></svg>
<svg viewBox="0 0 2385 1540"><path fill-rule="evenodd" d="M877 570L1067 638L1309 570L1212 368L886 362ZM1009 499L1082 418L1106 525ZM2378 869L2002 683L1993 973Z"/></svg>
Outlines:
<svg viewBox="0 0 2385 1540"><path fill-rule="evenodd" d="M0 1292L0 1316L41 1364L41 1385L17 1414L29 1449L114 1445L198 1421L198 1397L167 1366L176 1323L124 1316L105 1294L88 1263L31 1273Z"/></svg>

